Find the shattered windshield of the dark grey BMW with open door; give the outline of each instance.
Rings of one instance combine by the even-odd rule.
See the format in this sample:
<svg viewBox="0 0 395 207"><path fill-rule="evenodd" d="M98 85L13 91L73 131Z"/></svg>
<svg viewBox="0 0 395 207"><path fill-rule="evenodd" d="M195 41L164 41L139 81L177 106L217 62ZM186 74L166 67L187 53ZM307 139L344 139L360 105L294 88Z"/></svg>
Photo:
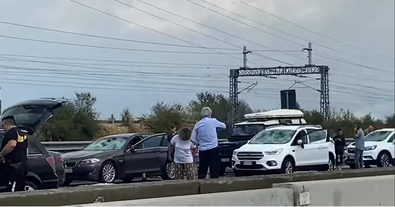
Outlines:
<svg viewBox="0 0 395 207"><path fill-rule="evenodd" d="M126 137L103 137L92 142L84 150L119 150L127 140Z"/></svg>

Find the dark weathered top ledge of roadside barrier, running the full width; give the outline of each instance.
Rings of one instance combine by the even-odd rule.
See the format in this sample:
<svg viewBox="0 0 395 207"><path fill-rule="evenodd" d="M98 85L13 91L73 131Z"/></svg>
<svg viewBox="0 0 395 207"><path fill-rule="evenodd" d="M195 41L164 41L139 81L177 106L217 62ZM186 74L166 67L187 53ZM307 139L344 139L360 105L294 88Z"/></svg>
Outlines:
<svg viewBox="0 0 395 207"><path fill-rule="evenodd" d="M238 190L255 190L271 188L273 183L394 175L394 169L393 167L369 168L332 172L297 173L292 175L259 175L197 181L158 181L107 186L58 188L30 192L3 193L0 194L0 204L3 206L62 206L93 203L99 197L102 197L105 202L110 202Z"/></svg>

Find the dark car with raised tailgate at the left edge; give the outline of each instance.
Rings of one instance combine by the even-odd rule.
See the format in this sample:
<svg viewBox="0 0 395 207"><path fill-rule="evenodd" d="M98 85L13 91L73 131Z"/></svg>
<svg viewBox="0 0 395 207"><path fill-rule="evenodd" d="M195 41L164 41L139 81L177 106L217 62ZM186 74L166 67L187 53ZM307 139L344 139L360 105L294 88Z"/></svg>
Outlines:
<svg viewBox="0 0 395 207"><path fill-rule="evenodd" d="M48 154L38 140L43 123L52 116L53 110L62 106L65 100L36 99L17 103L2 113L2 117L14 116L18 127L28 134L28 169L26 190L38 190L58 187L58 176L55 173L55 160ZM0 142L5 135L0 129ZM0 172L0 192L6 190L5 179Z"/></svg>

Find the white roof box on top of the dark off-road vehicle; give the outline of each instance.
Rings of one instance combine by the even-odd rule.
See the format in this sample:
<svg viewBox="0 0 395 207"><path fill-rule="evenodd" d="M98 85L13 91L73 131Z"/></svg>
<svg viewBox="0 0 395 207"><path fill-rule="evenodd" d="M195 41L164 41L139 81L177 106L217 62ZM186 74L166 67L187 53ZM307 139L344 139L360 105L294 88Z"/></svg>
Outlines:
<svg viewBox="0 0 395 207"><path fill-rule="evenodd" d="M244 115L245 119L278 119L278 118L301 118L303 112L296 109L276 109L266 112Z"/></svg>

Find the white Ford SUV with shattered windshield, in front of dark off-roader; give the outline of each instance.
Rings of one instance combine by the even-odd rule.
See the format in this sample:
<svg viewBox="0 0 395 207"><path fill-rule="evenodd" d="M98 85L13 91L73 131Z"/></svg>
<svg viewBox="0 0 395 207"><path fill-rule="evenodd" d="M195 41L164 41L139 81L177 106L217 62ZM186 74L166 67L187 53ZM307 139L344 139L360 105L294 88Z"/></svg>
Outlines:
<svg viewBox="0 0 395 207"><path fill-rule="evenodd" d="M315 125L267 127L233 151L236 176L254 172L333 170L335 145L327 131Z"/></svg>

